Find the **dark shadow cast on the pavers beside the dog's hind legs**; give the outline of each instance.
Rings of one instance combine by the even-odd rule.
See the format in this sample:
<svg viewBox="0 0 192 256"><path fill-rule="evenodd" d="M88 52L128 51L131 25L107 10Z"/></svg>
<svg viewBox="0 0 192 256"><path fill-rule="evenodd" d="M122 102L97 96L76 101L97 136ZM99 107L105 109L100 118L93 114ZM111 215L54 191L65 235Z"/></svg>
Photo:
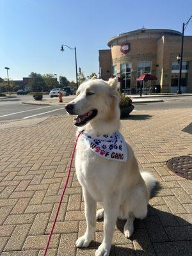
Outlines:
<svg viewBox="0 0 192 256"><path fill-rule="evenodd" d="M152 196L155 196L159 189L160 186L157 184ZM172 214L166 205L148 205L147 218L134 220L134 232L129 239L124 237L124 225L125 221L116 221L116 234L119 237L114 239L115 244L111 246L109 256L192 255L191 223ZM98 241L92 242L86 250L97 249L99 245Z"/></svg>

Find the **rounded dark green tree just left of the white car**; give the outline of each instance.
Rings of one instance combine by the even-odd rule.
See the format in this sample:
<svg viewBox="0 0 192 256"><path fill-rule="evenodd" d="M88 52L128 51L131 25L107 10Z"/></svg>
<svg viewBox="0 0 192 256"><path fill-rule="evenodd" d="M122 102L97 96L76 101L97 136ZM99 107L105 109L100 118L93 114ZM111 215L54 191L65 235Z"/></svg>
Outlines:
<svg viewBox="0 0 192 256"><path fill-rule="evenodd" d="M46 84L41 74L31 72L29 77L31 77L31 79L29 80L28 86L31 87L33 92L41 92L42 90L45 90Z"/></svg>

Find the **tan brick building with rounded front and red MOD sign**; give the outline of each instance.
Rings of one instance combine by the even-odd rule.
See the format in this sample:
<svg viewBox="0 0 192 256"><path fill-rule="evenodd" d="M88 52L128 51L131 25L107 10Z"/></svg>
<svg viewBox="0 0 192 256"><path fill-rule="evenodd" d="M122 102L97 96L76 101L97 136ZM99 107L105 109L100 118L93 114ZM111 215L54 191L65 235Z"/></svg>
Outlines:
<svg viewBox="0 0 192 256"><path fill-rule="evenodd" d="M108 42L110 49L99 50L100 77L120 77L120 88L136 93L142 74L152 74L156 81L144 84L144 93L177 92L182 34L171 29L138 29L120 34ZM184 36L182 92L192 92L192 36Z"/></svg>

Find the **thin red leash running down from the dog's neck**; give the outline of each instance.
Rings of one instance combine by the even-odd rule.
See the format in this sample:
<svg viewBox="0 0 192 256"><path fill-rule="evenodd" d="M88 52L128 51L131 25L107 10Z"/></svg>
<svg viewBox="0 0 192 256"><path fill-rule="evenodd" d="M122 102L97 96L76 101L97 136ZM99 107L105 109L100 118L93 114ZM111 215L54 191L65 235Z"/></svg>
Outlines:
<svg viewBox="0 0 192 256"><path fill-rule="evenodd" d="M56 221L57 221L57 218L58 218L58 214L59 214L59 212L60 212L60 207L61 207L61 203L62 203L62 200L63 200L63 196L64 196L65 190L66 190L66 188L67 188L68 180L69 180L69 177L70 177L70 171L71 171L71 168L72 168L72 163L73 163L73 160L74 160L74 154L75 154L75 152L76 152L77 141L79 140L79 136L80 136L80 135L81 135L81 132L79 132L79 134L78 134L78 136L77 136L77 138L76 138L76 141L75 141L75 143L74 143L74 148L73 148L73 151L72 151L72 157L71 157L71 159L70 159L70 166L69 166L69 169L68 169L67 180L66 180L66 182L65 182L65 185L64 185L64 187L63 187L63 191L62 191L62 193L61 193L60 204L58 205L58 209L57 209L57 211L56 211L56 216L54 217L54 221L53 221L53 223L52 223L51 231L50 231L50 233L49 233L49 238L48 238L48 240L47 240L47 244L46 244L46 246L45 246L45 250L44 250L44 255L43 255L43 256L46 256L47 250L48 250L48 248L49 248L49 243L50 243L50 241L51 241L52 232L53 232L53 230L54 230L54 226L56 225Z"/></svg>

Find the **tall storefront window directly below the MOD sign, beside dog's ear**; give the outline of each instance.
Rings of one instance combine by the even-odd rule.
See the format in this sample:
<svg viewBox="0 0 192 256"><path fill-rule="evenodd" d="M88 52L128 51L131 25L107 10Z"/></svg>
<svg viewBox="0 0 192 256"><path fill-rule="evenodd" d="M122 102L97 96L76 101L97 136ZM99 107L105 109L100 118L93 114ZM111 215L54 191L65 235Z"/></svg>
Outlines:
<svg viewBox="0 0 192 256"><path fill-rule="evenodd" d="M120 74L121 74L121 83L120 83L121 92L130 93L131 92L131 62L120 65Z"/></svg>

